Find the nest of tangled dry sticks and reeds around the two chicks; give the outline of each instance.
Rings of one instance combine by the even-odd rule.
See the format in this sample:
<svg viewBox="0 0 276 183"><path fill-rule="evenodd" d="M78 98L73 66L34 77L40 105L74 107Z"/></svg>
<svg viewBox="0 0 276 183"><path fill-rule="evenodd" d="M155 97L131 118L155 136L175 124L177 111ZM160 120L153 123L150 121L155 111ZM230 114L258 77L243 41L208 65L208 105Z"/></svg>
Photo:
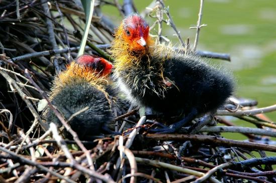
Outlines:
<svg viewBox="0 0 276 183"><path fill-rule="evenodd" d="M96 1L86 54L112 61L109 47L117 25L102 14L105 5L115 6L122 17L136 8L132 1L125 0L124 6L117 1ZM185 128L177 134L149 134L147 129L158 125L158 120L146 120L127 103L116 111L113 125L113 130L123 130L122 135L66 140L55 125L45 129L41 111L52 81L77 55L85 22L82 6L79 1L4 0L0 13L1 182L276 181L272 168L276 157L266 155L276 152L270 139L276 136L276 124L262 114L276 106L256 108L252 100L232 98L217 110L215 118L210 117L208 125L197 127L192 134L181 133L187 132ZM190 48L163 1L152 3L142 15L155 21L151 28L158 27L158 31L152 36L158 42L169 42L162 36L161 25L166 23L185 47L185 54L230 60L228 54L196 50L204 26L201 16ZM235 126L223 116L237 117L256 128ZM70 127L67 130L74 133ZM226 139L221 132L241 133L248 140Z"/></svg>

